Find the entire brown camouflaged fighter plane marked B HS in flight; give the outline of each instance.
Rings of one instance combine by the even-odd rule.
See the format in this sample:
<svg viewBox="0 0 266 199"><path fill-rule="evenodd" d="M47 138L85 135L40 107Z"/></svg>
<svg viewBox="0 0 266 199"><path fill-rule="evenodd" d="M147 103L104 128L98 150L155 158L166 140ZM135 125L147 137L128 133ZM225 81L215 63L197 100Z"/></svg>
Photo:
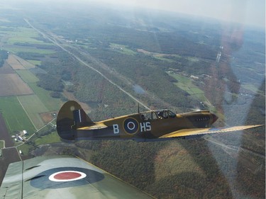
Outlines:
<svg viewBox="0 0 266 199"><path fill-rule="evenodd" d="M67 101L57 115L62 140L130 139L139 142L199 137L261 125L211 127L218 117L207 110L175 114L168 109L123 115L93 122L76 101Z"/></svg>

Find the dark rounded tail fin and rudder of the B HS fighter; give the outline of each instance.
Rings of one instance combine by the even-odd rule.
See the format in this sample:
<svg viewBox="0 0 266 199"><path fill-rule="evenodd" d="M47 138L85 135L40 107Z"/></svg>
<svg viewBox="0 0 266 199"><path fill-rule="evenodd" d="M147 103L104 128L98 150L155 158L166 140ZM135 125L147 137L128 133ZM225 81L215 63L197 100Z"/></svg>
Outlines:
<svg viewBox="0 0 266 199"><path fill-rule="evenodd" d="M94 122L76 101L67 101L57 115L57 132L65 140L74 140L79 127L92 126Z"/></svg>

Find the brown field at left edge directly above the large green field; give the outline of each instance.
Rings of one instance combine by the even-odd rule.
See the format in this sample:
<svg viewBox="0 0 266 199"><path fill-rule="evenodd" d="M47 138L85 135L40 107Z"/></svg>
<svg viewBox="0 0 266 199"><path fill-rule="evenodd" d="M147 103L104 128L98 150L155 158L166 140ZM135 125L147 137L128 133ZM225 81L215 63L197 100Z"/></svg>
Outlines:
<svg viewBox="0 0 266 199"><path fill-rule="evenodd" d="M20 96L33 94L33 90L18 74L0 74L0 96Z"/></svg>

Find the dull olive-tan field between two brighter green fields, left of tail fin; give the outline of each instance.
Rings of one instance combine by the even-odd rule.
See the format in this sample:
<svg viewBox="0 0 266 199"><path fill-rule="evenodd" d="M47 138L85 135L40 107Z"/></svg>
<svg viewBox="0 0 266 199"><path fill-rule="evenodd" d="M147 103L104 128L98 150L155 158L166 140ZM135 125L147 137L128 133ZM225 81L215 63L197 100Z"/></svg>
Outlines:
<svg viewBox="0 0 266 199"><path fill-rule="evenodd" d="M40 98L36 95L18 96L21 105L26 110L28 117L37 129L43 127L43 120L40 118L40 113L48 112Z"/></svg>

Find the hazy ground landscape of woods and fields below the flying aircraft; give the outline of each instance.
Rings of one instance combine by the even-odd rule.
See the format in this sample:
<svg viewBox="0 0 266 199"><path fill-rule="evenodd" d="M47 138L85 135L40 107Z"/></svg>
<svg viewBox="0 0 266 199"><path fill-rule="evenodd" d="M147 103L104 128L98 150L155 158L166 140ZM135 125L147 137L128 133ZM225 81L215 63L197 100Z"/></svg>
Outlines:
<svg viewBox="0 0 266 199"><path fill-rule="evenodd" d="M96 121L136 113L139 103L143 111L210 110L215 127L265 125L265 28L60 2L0 2L0 185L20 160L12 153L70 154L155 198L265 198L265 127L71 143L55 127L68 100Z"/></svg>

